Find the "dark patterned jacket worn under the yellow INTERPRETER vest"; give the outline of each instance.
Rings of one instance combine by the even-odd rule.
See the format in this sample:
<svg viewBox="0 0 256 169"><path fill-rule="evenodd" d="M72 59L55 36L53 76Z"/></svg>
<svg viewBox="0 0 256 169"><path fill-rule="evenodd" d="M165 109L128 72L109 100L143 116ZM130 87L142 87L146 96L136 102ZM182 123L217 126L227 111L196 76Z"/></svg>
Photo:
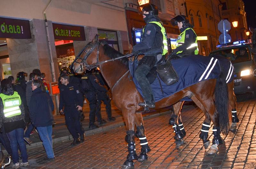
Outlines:
<svg viewBox="0 0 256 169"><path fill-rule="evenodd" d="M13 95L14 90L12 88L10 88L6 93L3 93L5 95ZM3 126L3 122L13 122L13 121L19 121L19 120L24 120L25 118L25 110L24 110L24 106L21 100L21 105L20 105L20 111L21 114L17 115L17 116L13 116L13 117L5 117L4 116L4 104L2 99L0 98L0 128L2 128Z"/></svg>

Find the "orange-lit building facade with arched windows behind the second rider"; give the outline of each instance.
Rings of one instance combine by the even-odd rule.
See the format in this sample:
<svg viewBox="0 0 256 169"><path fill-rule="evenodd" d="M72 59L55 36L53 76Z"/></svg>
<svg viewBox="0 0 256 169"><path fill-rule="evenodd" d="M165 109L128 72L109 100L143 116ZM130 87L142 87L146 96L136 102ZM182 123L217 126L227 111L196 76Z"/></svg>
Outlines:
<svg viewBox="0 0 256 169"><path fill-rule="evenodd" d="M219 44L220 0L186 0L188 19L199 37L200 55L209 55ZM202 37L202 38L200 38Z"/></svg>

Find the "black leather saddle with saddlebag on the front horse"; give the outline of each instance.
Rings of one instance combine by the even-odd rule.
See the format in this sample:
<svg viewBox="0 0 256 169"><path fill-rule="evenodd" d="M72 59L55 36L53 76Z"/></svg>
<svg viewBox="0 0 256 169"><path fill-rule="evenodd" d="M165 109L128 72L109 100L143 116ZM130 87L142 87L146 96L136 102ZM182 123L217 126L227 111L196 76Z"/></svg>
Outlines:
<svg viewBox="0 0 256 169"><path fill-rule="evenodd" d="M173 69L171 62L165 59L165 55L162 56L146 76L150 84L155 81L157 74L166 85L172 85L179 81L178 74Z"/></svg>

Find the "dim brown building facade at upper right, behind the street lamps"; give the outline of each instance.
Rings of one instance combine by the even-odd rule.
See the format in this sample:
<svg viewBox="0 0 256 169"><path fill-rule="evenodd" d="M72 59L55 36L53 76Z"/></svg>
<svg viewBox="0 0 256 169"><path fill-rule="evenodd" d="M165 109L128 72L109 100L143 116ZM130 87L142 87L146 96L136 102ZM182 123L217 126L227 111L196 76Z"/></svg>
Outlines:
<svg viewBox="0 0 256 169"><path fill-rule="evenodd" d="M231 23L231 30L228 32L231 41L246 40L248 31L246 12L244 11L244 2L242 0L221 0L221 14L223 19ZM237 21L235 28L232 22Z"/></svg>

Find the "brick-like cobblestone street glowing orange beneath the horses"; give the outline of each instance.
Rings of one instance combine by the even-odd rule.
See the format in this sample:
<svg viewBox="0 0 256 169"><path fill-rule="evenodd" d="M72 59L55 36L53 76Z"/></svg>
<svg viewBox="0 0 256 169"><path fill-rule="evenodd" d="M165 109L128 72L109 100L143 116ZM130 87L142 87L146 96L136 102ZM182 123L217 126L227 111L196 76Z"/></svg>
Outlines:
<svg viewBox="0 0 256 169"><path fill-rule="evenodd" d="M202 111L194 106L184 106L182 121L187 131L186 144L175 149L174 133L168 124L170 114L144 121L146 136L151 151L148 160L135 162L135 168L256 168L255 101L237 103L236 133L222 136L225 143L219 146L217 155L207 155L199 139L204 121ZM209 132L212 141L212 124ZM70 146L70 142L54 144L54 161L44 161L43 148L28 151L28 168L121 168L127 152L124 141L125 127L86 136L84 143ZM209 146L210 147L210 146ZM209 148L208 147L208 148ZM140 153L139 139L136 139L137 154ZM6 167L11 168L11 167ZM21 167L23 168L23 167Z"/></svg>

